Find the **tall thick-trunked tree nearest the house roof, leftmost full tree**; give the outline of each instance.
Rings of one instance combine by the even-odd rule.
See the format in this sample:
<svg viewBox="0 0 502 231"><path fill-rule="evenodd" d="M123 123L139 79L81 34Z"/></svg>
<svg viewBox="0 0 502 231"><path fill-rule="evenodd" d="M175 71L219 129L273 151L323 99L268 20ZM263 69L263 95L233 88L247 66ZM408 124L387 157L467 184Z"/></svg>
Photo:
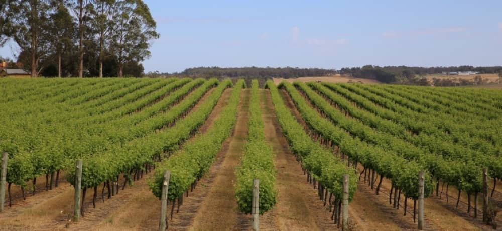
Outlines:
<svg viewBox="0 0 502 231"><path fill-rule="evenodd" d="M9 6L12 26L9 35L22 51L30 54L30 62L26 64L31 69L32 77L37 77L43 70L39 63L50 53L49 41L46 39L50 10L48 0L19 0Z"/></svg>

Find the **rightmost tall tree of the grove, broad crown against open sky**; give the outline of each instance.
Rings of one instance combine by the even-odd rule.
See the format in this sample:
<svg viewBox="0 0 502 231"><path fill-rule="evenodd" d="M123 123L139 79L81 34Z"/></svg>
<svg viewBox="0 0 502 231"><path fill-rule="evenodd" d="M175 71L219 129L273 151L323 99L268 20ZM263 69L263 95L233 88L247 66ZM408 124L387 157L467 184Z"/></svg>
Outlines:
<svg viewBox="0 0 502 231"><path fill-rule="evenodd" d="M159 38L156 22L142 0L122 0L115 4L116 26L112 33L111 52L122 77L126 63L139 63L150 57L150 41Z"/></svg>

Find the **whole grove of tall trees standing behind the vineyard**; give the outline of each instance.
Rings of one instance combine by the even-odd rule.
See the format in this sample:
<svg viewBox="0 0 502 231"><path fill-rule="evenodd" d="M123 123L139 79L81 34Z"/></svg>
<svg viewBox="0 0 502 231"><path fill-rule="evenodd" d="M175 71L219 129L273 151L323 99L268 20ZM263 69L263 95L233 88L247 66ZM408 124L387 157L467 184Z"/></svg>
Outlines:
<svg viewBox="0 0 502 231"><path fill-rule="evenodd" d="M32 77L142 76L159 36L142 0L0 0L0 47Z"/></svg>

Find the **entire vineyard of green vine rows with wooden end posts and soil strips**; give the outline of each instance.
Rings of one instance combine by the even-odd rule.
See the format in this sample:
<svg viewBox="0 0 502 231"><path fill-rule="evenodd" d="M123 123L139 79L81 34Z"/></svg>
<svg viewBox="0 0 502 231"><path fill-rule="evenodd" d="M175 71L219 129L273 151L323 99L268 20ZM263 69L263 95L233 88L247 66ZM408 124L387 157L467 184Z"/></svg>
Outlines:
<svg viewBox="0 0 502 231"><path fill-rule="evenodd" d="M491 230L502 220L502 91L261 87L0 79L0 230Z"/></svg>

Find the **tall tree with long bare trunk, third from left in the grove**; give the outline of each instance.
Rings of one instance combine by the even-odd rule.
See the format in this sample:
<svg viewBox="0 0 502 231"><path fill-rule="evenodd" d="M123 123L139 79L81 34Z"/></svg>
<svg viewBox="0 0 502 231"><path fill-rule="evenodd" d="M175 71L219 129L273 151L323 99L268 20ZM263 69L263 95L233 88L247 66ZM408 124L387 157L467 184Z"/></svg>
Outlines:
<svg viewBox="0 0 502 231"><path fill-rule="evenodd" d="M78 77L82 78L84 73L84 34L89 29L91 21L90 15L94 10L94 0L71 0L70 8L77 21L78 28Z"/></svg>

